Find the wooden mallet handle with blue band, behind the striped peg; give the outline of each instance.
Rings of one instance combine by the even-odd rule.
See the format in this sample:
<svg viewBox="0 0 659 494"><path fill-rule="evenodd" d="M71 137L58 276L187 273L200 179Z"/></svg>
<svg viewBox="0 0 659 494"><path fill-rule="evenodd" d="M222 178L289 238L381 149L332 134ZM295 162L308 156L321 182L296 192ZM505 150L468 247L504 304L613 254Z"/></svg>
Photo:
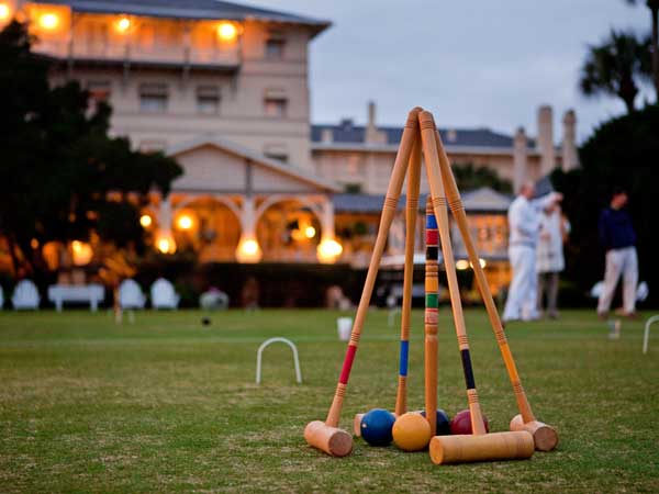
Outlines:
<svg viewBox="0 0 659 494"><path fill-rule="evenodd" d="M418 217L418 189L421 184L421 139L414 141L407 167L407 197L405 204L405 268L403 271L403 311L401 315L401 351L395 414L407 411L407 358L410 355L410 315L412 313L412 284L414 283L414 247L416 218Z"/></svg>

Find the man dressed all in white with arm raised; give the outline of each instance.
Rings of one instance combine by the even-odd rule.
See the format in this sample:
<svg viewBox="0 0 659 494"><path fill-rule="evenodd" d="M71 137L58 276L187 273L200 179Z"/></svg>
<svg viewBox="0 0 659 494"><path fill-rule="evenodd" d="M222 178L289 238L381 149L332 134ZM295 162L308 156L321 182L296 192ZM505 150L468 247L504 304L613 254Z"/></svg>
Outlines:
<svg viewBox="0 0 659 494"><path fill-rule="evenodd" d="M540 212L562 200L562 194L551 193L534 200L535 186L525 183L520 195L509 209L509 257L513 268L503 321L533 321L538 318L536 273L536 246L540 232Z"/></svg>

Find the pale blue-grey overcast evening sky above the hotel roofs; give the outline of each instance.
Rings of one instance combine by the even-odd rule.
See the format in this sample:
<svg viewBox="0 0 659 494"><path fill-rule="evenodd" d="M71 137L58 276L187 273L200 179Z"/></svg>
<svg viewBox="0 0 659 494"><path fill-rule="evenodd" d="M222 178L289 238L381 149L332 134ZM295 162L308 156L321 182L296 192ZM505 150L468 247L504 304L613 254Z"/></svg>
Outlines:
<svg viewBox="0 0 659 494"><path fill-rule="evenodd" d="M237 0L238 1L238 0ZM536 133L536 109L577 111L579 138L624 111L608 98L578 92L589 43L610 31L649 32L645 2L624 0L247 0L326 19L333 26L311 44L312 121L366 120L378 103L380 124L402 125L418 104L446 127ZM651 94L649 91L647 94ZM640 102L640 99L638 100ZM560 133L555 134L557 141Z"/></svg>

